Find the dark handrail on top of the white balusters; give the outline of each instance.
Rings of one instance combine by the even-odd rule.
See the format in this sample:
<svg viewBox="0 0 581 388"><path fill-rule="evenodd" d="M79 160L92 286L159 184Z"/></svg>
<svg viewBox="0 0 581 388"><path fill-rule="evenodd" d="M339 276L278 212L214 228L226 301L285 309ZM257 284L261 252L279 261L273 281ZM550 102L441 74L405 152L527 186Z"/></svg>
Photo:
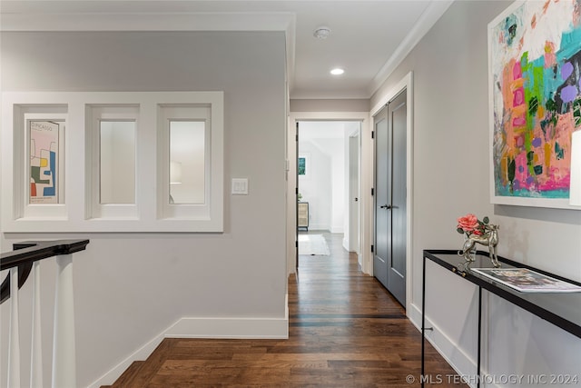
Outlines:
<svg viewBox="0 0 581 388"><path fill-rule="evenodd" d="M61 254L74 254L84 251L89 240L55 240L27 241L13 245L14 251L0 254L0 271L18 267L18 288L25 284L32 270L33 263L38 260ZM0 285L0 303L10 297L10 274Z"/></svg>

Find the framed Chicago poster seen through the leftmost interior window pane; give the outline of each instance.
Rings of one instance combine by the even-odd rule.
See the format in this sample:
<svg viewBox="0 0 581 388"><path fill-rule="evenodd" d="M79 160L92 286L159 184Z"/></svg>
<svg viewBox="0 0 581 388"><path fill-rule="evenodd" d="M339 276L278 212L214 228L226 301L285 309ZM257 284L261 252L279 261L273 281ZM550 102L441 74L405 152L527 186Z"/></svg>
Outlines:
<svg viewBox="0 0 581 388"><path fill-rule="evenodd" d="M59 125L30 121L30 203L57 204Z"/></svg>

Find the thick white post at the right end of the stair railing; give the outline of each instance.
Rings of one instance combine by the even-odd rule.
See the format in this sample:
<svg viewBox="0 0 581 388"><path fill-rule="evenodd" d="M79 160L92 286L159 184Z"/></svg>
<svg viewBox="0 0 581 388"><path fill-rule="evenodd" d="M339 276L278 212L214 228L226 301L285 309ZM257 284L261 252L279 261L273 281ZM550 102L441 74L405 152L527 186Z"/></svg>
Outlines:
<svg viewBox="0 0 581 388"><path fill-rule="evenodd" d="M52 387L76 388L73 254L56 256L56 264Z"/></svg>

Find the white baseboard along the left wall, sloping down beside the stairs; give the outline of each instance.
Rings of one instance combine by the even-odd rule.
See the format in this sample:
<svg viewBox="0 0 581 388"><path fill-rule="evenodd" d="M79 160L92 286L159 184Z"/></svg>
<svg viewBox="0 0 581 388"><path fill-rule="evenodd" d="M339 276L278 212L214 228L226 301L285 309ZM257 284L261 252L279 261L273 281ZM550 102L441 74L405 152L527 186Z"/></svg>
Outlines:
<svg viewBox="0 0 581 388"><path fill-rule="evenodd" d="M145 360L163 338L235 338L285 339L289 338L289 296L284 318L193 318L184 317L156 335L141 348L131 353L109 372L89 384L87 388L110 385L134 362Z"/></svg>

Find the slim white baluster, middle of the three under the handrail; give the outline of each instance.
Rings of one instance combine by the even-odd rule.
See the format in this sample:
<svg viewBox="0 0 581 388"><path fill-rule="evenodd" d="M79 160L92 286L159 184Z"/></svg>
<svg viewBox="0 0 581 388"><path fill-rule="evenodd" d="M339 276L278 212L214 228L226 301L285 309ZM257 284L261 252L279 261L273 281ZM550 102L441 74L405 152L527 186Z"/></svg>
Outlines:
<svg viewBox="0 0 581 388"><path fill-rule="evenodd" d="M30 388L43 386L42 324L40 320L40 263L33 264L33 335L30 351Z"/></svg>

